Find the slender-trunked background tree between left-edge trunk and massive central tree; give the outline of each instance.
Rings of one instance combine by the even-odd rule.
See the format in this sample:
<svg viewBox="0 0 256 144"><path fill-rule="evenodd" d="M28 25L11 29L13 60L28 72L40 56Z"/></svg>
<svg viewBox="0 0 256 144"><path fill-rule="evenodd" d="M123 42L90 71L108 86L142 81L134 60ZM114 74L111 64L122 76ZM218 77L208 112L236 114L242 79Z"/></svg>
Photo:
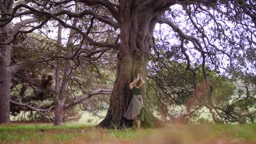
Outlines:
<svg viewBox="0 0 256 144"><path fill-rule="evenodd" d="M69 6L66 6L66 7L69 7ZM78 4L76 8L77 8L76 10L78 11ZM74 19L73 25L75 25L76 23L77 23L77 18ZM88 32L89 31L91 31L91 28L88 29ZM95 61L96 59L100 58L103 52L105 52L108 49L92 51L92 53L89 53L88 55L86 55L85 53L86 51L80 51L79 55L77 55L77 59L73 59L73 55L76 55L76 53L78 53L78 50L82 48L83 41L80 41L80 44L78 44L78 47L80 46L80 48L75 49L73 40L77 36L75 35L74 31L71 31L70 32L71 34L69 35L69 38L67 41L67 45L64 47L61 44L61 39L62 39L61 32L62 32L62 28L60 27L60 24L59 24L59 31L58 31L59 35L56 40L56 43L54 44L51 44L55 42L53 40L47 40L46 38L43 38L43 39L34 38L36 39L36 42L32 43L30 46L27 46L27 49L29 50L35 43L39 42L39 47L37 49L32 49L30 53L31 55L34 55L33 58L36 58L36 59L31 59L32 62L33 61L35 62L31 64L32 68L30 68L28 71L36 71L36 75L39 72L39 75L40 75L39 77L42 77L42 80L40 81L42 82L38 84L36 81L26 80L26 83L32 86L36 85L37 87L41 87L44 90L44 92L34 93L33 96L27 100L33 100L33 98L35 98L36 100L41 100L41 101L45 99L53 101L52 103L50 103L50 106L48 106L50 107L49 109L42 110L42 109L39 109L38 107L37 111L50 111L53 107L55 107L55 117L54 117L55 125L61 125L64 109L67 109L69 106L80 103L81 101L89 98L93 94L109 93L109 90L107 89L98 89L96 87L97 89L93 88L96 90L96 93L91 93L89 95L86 95L85 97L78 99L79 92L82 91L82 93L90 93L91 90L89 90L88 92L86 91L86 89L92 89L88 87L88 86L92 86L93 81L90 80L92 79L92 77L86 77L86 79L89 79L89 80L86 80L86 82L88 83L88 81L91 81L92 83L89 82L88 85L85 85L83 82L84 81L83 75L86 74L85 71L88 71L88 73L90 73L89 72L90 69L88 69L88 63L86 63L86 61L89 61L89 63L91 63L91 61ZM50 47L50 46L53 46L53 47ZM42 53L37 53L38 50L41 51ZM45 50L48 51L48 53L44 52ZM23 50L23 51L27 51L27 50ZM100 53L100 55L93 58L92 56L97 53ZM26 53L26 55L27 54L28 53ZM108 55L110 55L110 53ZM42 61L37 60L42 58L43 58ZM65 61L60 61L60 58L65 59ZM108 56L104 58L108 58ZM53 63L53 61L56 61L56 63ZM35 66L36 64L42 63L42 62L45 62L45 64L42 64L42 66L40 65L41 66L40 68L42 69L39 69L38 67ZM31 67L31 66L28 66L28 67ZM93 67L96 67L96 65L93 65ZM51 85L48 86L49 81L47 81L46 86L44 86L43 84L45 83L45 80L48 79L48 76L51 76L51 75L45 75L45 74L53 73L53 69L55 69L55 88L51 87ZM71 73L71 71L74 71L74 73ZM96 71L98 71L97 67L96 67ZM25 75L22 75L20 77L22 79L30 78L30 77L26 77ZM83 81L81 82L81 80ZM104 80L107 81L108 79L104 79ZM53 81L54 79L52 80L52 82ZM53 84L52 82L51 84ZM72 83L72 86L69 84L69 82ZM68 91L68 88L70 88L69 91ZM46 97L46 95L49 95L50 97ZM27 104L15 103L15 101L12 101L12 103L31 108L31 106L28 105L28 103L31 103L31 101L27 101L27 100L26 100ZM42 108L44 107L45 106L43 106ZM35 109L32 109L32 110L35 110Z"/></svg>

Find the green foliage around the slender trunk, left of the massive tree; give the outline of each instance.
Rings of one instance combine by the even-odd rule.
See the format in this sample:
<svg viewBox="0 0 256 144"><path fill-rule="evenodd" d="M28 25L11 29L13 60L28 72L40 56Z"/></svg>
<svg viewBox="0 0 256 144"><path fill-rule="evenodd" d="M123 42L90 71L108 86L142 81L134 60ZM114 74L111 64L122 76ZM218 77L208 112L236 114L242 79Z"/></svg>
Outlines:
<svg viewBox="0 0 256 144"><path fill-rule="evenodd" d="M30 33L26 35L28 41L24 45L18 45L13 51L15 61L26 61L22 70L18 75L15 75L15 88L11 89L12 99L20 103L31 103L31 106L39 107L41 109L47 109L53 105L58 97L55 93L45 92L42 89L43 76L53 76L55 80L55 66L56 59L48 62L34 63L45 59L51 59L54 56L65 56L66 53L73 53L77 50L74 45L68 45L67 47L57 44L56 40L46 38L44 35L37 33ZM92 46L91 49L84 49L84 51L90 53L97 50L98 47ZM88 51L87 51L88 50ZM107 53L107 58L112 57L113 53ZM63 67L66 61L61 61L60 71L61 79L63 73ZM32 65L34 64L34 65ZM112 72L114 62L111 61L85 61L83 59L73 61L72 68L79 64L79 67L72 69L72 74L69 76L69 88L65 93L66 101L72 101L75 97L83 97L85 94L92 92L95 88L110 89L114 82L114 74ZM109 65L112 65L109 67ZM32 67L33 66L33 67ZM21 78L22 77L22 78ZM72 78L71 78L72 77ZM14 83L14 82L13 82ZM20 94L22 86L26 86L24 94ZM54 91L55 83L49 87ZM98 95L91 98L91 101L86 101L85 104L80 105L83 110L90 110L91 112L97 112L99 110L107 109L109 103L108 97L104 95ZM25 112L22 116L19 115L21 121L39 121L49 122L53 121L53 112L34 112L26 107L19 107L11 104L11 115L18 116L19 113ZM72 113L73 112L73 113ZM26 115L26 118L24 119ZM24 116L24 117L23 117ZM67 110L63 121L77 121L80 117L79 110L76 111Z"/></svg>

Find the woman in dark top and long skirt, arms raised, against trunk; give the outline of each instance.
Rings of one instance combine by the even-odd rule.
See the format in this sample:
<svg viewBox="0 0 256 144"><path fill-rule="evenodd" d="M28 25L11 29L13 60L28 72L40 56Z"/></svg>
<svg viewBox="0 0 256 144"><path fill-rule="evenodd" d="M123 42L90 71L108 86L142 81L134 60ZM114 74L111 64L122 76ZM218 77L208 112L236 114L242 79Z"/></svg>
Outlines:
<svg viewBox="0 0 256 144"><path fill-rule="evenodd" d="M141 83L138 85L138 81L141 80ZM142 76L138 74L137 78L133 79L133 82L130 83L130 89L132 93L132 99L128 106L128 109L125 113L126 119L132 119L133 124L137 124L137 128L140 127L141 121L144 121L144 105L141 97L141 87L145 85L145 81L142 79Z"/></svg>

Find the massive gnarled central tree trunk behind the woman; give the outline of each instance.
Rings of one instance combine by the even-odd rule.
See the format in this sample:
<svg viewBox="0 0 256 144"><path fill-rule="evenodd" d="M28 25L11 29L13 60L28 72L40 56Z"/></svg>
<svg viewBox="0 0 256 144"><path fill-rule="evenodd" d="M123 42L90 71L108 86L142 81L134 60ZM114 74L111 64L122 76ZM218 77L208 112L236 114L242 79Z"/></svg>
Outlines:
<svg viewBox="0 0 256 144"><path fill-rule="evenodd" d="M121 44L118 53L117 75L114 88L110 95L110 104L106 117L99 124L101 127L131 127L131 121L123 117L131 100L131 77L142 74L147 76L148 57L152 35L158 16L168 8L158 6L158 2L148 2L148 5L133 1L121 1L119 7ZM145 86L142 88L144 99ZM154 127L154 117L146 109L145 121L142 125Z"/></svg>

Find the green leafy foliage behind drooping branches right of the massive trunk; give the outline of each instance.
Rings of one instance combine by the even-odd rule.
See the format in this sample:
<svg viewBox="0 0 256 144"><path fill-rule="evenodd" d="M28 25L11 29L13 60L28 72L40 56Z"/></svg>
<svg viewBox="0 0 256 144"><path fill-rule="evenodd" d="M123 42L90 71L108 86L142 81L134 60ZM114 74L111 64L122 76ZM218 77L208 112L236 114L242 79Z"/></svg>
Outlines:
<svg viewBox="0 0 256 144"><path fill-rule="evenodd" d="M166 52L168 53L168 52ZM181 115L184 115L188 109L189 100L193 99L193 74L191 71L185 71L186 64L178 61L166 61L165 54L161 57L152 57L152 65L149 68L149 80L147 86L147 100L152 108L152 111L163 121L175 121ZM156 60L157 59L157 60ZM208 101L208 89L205 87L205 78L203 77L200 65L192 65L196 71L196 84L199 87L199 93L205 93L200 97L202 101ZM238 122L230 115L237 115L239 105L234 98L236 97L236 85L232 79L219 75L217 71L206 67L206 74L213 86L211 93L211 103L222 107L226 112L219 112L220 117L217 117L219 123L230 123L230 121ZM197 92L198 93L198 92ZM193 109L199 106L188 117L189 123L204 123L210 122L202 118L200 111L203 107L201 103L193 100ZM249 103L248 103L249 104ZM191 107L189 108L191 109Z"/></svg>

